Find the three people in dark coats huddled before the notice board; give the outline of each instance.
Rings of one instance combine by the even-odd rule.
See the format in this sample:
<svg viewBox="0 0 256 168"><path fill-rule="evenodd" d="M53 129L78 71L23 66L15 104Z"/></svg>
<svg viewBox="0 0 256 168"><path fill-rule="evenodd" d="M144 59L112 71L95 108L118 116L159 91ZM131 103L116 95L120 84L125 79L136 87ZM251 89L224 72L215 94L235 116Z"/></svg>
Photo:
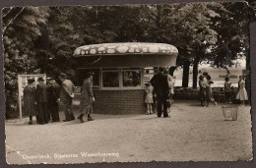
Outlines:
<svg viewBox="0 0 256 168"><path fill-rule="evenodd" d="M58 100L60 97L60 85L54 79L49 79L49 84L44 84L42 77L38 78L38 84L34 87L34 79L28 80L28 85L24 88L23 107L30 116L36 116L38 124L47 124L52 117L52 122L59 121Z"/></svg>

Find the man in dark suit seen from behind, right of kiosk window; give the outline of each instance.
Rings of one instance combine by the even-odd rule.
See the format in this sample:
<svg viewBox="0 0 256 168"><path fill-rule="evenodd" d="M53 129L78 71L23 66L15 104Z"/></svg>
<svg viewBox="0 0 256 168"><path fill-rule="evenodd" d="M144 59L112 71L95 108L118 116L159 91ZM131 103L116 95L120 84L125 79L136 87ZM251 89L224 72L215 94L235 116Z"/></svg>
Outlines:
<svg viewBox="0 0 256 168"><path fill-rule="evenodd" d="M150 83L154 86L154 91L157 93L157 101L158 101L158 117L161 116L161 107L163 106L163 117L168 117L168 113L166 112L167 104L166 100L169 94L167 76L163 75L163 68L159 68L159 73L154 75L151 79Z"/></svg>

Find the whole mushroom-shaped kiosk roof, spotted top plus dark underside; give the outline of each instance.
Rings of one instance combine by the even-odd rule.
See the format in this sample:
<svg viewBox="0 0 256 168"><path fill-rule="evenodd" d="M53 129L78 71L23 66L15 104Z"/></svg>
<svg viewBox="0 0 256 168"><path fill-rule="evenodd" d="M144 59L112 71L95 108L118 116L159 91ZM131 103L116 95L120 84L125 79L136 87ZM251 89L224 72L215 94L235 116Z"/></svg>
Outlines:
<svg viewBox="0 0 256 168"><path fill-rule="evenodd" d="M78 69L117 67L169 67L178 50L164 43L125 42L84 45L74 52Z"/></svg>

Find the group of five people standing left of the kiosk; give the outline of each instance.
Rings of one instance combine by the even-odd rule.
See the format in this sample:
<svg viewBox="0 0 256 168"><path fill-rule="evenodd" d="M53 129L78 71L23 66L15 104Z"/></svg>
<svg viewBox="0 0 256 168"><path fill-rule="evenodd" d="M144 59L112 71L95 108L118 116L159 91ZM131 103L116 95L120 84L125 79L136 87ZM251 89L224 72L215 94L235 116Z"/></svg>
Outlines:
<svg viewBox="0 0 256 168"><path fill-rule="evenodd" d="M23 107L30 116L29 124L32 125L32 116L36 117L36 123L47 124L59 122L59 105L62 105L65 119L64 122L75 120L72 100L75 95L75 85L67 79L66 74L61 73L58 77L61 84L57 84L55 79L49 79L48 84L44 84L42 77L39 77L38 84L34 87L34 79L28 80L28 85L24 88ZM93 111L93 102L95 101L93 94L93 74L88 73L86 80L81 88L81 115L78 119L84 123L83 116L88 115L88 121L93 121L91 113Z"/></svg>

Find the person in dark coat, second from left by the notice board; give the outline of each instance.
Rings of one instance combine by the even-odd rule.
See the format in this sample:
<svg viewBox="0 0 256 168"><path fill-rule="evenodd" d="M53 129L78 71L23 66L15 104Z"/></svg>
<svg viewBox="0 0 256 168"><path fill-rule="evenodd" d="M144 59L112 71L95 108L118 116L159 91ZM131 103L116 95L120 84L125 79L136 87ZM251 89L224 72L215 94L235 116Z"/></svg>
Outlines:
<svg viewBox="0 0 256 168"><path fill-rule="evenodd" d="M36 85L36 103L38 106L37 123L47 124L48 123L48 112L47 112L47 91L48 85L43 83L43 78L38 78L38 84Z"/></svg>

